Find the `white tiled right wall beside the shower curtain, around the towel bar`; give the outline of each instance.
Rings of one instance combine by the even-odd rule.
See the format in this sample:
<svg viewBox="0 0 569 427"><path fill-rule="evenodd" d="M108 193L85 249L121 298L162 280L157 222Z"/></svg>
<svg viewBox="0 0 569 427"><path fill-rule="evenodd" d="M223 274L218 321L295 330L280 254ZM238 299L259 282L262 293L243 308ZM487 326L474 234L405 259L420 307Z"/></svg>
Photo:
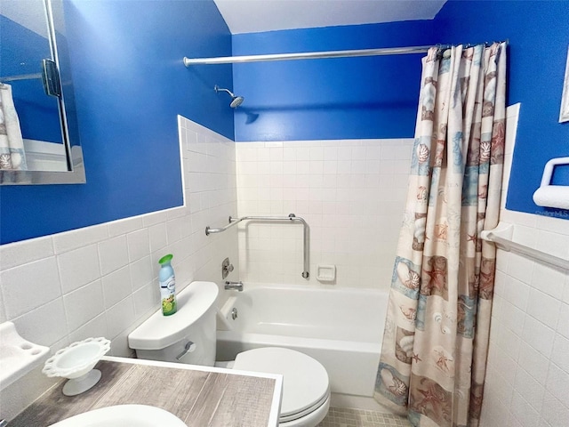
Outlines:
<svg viewBox="0 0 569 427"><path fill-rule="evenodd" d="M509 109L504 194L518 109ZM515 225L515 241L567 258L569 221L511 212L503 206L501 220ZM565 427L569 271L502 250L497 264L481 427Z"/></svg>

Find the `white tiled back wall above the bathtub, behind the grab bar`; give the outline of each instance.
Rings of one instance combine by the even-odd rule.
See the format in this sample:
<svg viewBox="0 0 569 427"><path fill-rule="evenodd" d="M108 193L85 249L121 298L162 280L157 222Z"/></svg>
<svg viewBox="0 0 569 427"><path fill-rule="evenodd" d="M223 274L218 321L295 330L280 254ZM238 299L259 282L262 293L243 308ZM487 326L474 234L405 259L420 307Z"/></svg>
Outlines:
<svg viewBox="0 0 569 427"><path fill-rule="evenodd" d="M389 289L412 149L412 139L237 143L239 216L293 213L310 227L307 281L300 224L240 224L241 278L319 285L317 264L334 264L335 286Z"/></svg>

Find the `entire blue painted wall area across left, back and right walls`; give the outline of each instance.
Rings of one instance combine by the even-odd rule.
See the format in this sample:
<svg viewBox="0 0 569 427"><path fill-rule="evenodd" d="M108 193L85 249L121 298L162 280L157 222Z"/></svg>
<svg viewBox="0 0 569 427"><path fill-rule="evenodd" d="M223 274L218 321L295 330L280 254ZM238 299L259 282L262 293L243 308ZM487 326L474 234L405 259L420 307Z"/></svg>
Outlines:
<svg viewBox="0 0 569 427"><path fill-rule="evenodd" d="M236 141L413 135L421 55L184 68L183 56L509 39L509 103L522 102L509 209L533 205L542 167L569 155L558 124L569 2L451 0L431 21L233 36L212 0L66 0L87 184L0 188L0 241L181 204L176 115ZM233 73L232 73L233 70ZM233 83L235 82L235 85ZM243 107L213 85L235 87ZM566 171L567 168L565 168ZM560 170L556 183L569 183Z"/></svg>

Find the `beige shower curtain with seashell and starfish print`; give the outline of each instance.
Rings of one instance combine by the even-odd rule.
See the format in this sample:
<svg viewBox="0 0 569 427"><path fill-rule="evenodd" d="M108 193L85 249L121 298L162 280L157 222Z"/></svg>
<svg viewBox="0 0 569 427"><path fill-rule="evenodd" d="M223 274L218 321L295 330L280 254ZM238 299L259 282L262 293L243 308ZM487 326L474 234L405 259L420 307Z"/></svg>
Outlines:
<svg viewBox="0 0 569 427"><path fill-rule="evenodd" d="M506 44L431 48L374 397L415 427L477 426L495 270Z"/></svg>

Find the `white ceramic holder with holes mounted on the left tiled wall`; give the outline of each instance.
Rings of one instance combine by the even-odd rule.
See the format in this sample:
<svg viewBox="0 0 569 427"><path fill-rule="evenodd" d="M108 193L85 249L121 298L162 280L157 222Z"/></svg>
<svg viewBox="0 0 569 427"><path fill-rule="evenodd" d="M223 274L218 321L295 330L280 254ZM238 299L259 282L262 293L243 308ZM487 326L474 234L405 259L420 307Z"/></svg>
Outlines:
<svg viewBox="0 0 569 427"><path fill-rule="evenodd" d="M12 322L0 325L0 390L41 366L47 359L49 347L24 340Z"/></svg>

